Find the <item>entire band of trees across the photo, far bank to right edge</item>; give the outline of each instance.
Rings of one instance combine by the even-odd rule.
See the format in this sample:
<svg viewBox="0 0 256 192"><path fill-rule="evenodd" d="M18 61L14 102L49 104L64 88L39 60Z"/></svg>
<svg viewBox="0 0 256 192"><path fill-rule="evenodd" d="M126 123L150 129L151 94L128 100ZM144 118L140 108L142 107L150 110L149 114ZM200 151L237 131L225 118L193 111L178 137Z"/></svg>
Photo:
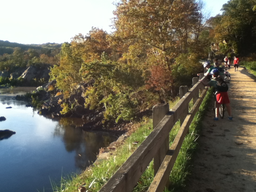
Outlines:
<svg viewBox="0 0 256 192"><path fill-rule="evenodd" d="M92 27L61 50L0 41L0 70L50 64L62 113L78 105L65 99L83 86L84 107L103 110L107 120L132 120L190 86L203 70L199 60L254 53L255 7L256 0L230 0L222 15L206 18L202 1L120 0L112 34Z"/></svg>

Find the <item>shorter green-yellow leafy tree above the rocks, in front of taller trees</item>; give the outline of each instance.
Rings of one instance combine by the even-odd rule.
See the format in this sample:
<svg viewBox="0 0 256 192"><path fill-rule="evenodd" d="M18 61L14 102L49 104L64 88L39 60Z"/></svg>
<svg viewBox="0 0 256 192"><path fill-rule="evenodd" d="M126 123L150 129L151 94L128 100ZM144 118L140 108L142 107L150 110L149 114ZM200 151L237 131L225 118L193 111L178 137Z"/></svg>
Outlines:
<svg viewBox="0 0 256 192"><path fill-rule="evenodd" d="M86 107L90 109L105 107L105 118L131 120L138 112L138 103L131 86L131 73L109 60L102 53L100 60L84 63L80 70L83 80L93 81L85 92ZM129 83L128 83L129 82Z"/></svg>

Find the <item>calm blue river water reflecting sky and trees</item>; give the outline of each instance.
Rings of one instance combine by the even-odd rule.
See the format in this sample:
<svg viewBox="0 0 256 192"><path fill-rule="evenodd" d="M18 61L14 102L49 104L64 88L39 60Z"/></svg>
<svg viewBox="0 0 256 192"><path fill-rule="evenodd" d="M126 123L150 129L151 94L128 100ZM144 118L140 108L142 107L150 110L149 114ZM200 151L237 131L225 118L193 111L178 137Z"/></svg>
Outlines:
<svg viewBox="0 0 256 192"><path fill-rule="evenodd" d="M53 121L38 115L15 95L30 88L0 89L0 130L16 134L0 140L0 191L53 191L51 182L79 173L95 161L99 148L116 138L72 127L81 119ZM35 88L34 88L35 89ZM12 107L12 108L6 108Z"/></svg>

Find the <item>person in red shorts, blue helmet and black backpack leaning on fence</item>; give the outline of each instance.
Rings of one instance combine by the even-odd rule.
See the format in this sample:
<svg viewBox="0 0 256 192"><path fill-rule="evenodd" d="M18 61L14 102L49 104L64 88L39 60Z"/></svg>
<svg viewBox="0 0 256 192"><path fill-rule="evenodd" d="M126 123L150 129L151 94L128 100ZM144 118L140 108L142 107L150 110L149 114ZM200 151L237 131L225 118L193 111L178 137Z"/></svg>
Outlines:
<svg viewBox="0 0 256 192"><path fill-rule="evenodd" d="M214 87L214 95L215 95L215 118L213 119L214 121L218 121L219 118L219 107L221 104L225 104L227 107L227 113L229 114L228 119L230 121L233 120L232 115L231 115L231 107L230 107L230 101L229 101L229 96L227 94L228 86L224 82L224 80L219 76L219 70L218 69L213 69L211 70L210 74L212 75L212 78L208 83L204 83L201 79L204 86L213 86Z"/></svg>

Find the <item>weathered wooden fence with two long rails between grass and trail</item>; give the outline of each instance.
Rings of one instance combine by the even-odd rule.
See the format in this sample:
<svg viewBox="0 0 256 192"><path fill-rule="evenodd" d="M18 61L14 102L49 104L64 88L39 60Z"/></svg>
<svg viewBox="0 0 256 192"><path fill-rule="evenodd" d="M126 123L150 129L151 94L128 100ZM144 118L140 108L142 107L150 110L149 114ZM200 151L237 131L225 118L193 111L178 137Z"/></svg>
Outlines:
<svg viewBox="0 0 256 192"><path fill-rule="evenodd" d="M206 81L203 74L200 74L199 78ZM187 86L180 87L181 99L171 110L167 104L153 107L154 130L99 191L132 191L152 159L154 159L155 177L148 191L164 190L169 183L171 170L189 131L189 126L208 90L198 82L199 78L193 78L193 87L190 90ZM200 96L199 93L201 93ZM189 111L189 103L192 99L194 105ZM179 119L181 128L169 147L169 133Z"/></svg>

